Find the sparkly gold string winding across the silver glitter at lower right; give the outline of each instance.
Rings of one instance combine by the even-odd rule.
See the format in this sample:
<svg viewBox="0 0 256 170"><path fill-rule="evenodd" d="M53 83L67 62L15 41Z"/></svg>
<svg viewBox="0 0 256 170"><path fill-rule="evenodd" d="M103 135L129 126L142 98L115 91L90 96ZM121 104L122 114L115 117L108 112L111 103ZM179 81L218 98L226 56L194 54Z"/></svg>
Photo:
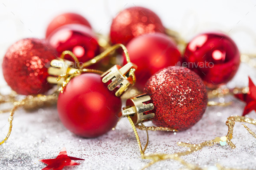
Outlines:
<svg viewBox="0 0 256 170"><path fill-rule="evenodd" d="M142 150L141 149L141 141L139 139L138 132L137 132L137 130L135 128L135 125L132 122L130 117L128 117L128 120L131 123L131 126L134 130L135 137L136 137L136 140L138 142L139 149L141 151ZM144 154L144 152L143 152L143 154L141 154L141 158L142 159L150 159L151 162L148 163L145 167L143 167L142 170L144 170L147 167L150 167L151 165L155 164L158 161L167 160L167 159L177 160L182 165L184 165L185 167L187 167L191 170L194 170L194 169L202 170L202 168L200 168L200 167L198 167L194 164L187 163L185 160L181 159L181 156L185 156L187 154L194 153L196 151L201 150L204 147L212 146L214 144L220 144L220 145L221 144L222 145L228 144L228 145L230 145L231 148L233 148L233 149L236 148L235 144L233 144L233 142L231 141L231 139L233 138L233 128L235 126L235 122L247 122L247 123L256 125L256 120L255 119L251 119L251 118L248 118L248 117L245 117L245 116L230 116L229 118L227 118L227 121L226 121L226 125L228 126L228 132L227 132L226 136L216 137L213 140L204 141L200 144L189 144L189 143L185 143L185 142L178 142L177 143L178 146L186 147L186 148L189 148L189 149L187 151L177 152L177 153L174 153L174 154L158 154L158 153ZM246 128L246 130L251 135L253 135L254 138L256 138L256 134L254 132L252 132L246 125L244 125L244 127ZM217 168L219 170L223 170L223 167L221 167L221 166L217 166ZM225 168L225 169L234 170L233 168Z"/></svg>

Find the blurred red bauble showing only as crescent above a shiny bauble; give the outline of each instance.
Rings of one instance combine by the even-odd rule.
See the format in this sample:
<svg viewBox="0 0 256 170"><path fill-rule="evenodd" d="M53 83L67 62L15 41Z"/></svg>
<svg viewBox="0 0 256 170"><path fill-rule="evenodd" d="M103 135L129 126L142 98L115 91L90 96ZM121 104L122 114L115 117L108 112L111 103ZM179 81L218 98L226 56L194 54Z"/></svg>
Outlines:
<svg viewBox="0 0 256 170"><path fill-rule="evenodd" d="M81 15L76 13L62 13L56 16L48 25L46 38L57 28L67 24L82 24L91 28L90 23Z"/></svg>

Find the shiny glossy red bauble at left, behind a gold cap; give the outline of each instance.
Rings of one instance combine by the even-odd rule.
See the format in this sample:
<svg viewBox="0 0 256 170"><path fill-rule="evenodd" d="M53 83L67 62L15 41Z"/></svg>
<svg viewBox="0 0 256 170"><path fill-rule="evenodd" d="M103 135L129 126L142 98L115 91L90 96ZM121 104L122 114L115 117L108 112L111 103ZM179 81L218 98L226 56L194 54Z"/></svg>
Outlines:
<svg viewBox="0 0 256 170"><path fill-rule="evenodd" d="M99 45L95 35L88 26L69 24L56 29L47 38L59 55L65 50L72 51L79 62L85 62L99 54ZM74 61L69 55L65 58Z"/></svg>

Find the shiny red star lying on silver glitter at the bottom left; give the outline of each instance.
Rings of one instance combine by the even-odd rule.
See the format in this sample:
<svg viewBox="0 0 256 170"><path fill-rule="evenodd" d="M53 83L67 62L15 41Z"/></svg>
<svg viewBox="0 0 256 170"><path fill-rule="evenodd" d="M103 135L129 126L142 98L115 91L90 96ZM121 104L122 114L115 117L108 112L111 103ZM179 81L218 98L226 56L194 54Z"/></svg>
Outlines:
<svg viewBox="0 0 256 170"><path fill-rule="evenodd" d="M79 165L73 160L84 160L77 157L69 157L66 151L66 148L62 148L59 152L59 155L55 159L41 159L39 161L47 164L42 170L62 170L66 166Z"/></svg>

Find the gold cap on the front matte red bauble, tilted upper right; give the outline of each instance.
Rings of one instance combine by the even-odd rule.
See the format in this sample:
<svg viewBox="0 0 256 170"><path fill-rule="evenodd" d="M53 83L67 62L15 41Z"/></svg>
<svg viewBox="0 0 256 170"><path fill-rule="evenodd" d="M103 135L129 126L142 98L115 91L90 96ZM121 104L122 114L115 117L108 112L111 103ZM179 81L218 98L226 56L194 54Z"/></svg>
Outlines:
<svg viewBox="0 0 256 170"><path fill-rule="evenodd" d="M108 84L108 90L115 90L115 96L121 96L128 88L135 83L134 71L137 69L137 65L133 63L127 63L123 67L114 65L108 71L102 74L102 82Z"/></svg>

